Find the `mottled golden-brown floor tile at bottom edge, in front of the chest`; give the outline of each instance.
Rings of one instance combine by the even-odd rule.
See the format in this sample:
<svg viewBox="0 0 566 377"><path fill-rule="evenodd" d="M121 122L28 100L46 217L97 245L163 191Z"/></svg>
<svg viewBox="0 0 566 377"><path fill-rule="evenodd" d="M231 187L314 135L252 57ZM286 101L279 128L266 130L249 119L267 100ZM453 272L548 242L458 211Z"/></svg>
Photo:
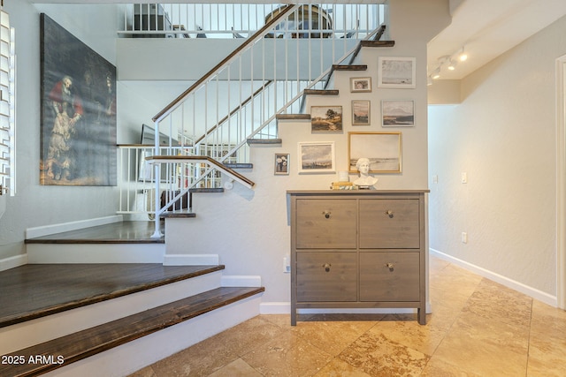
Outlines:
<svg viewBox="0 0 566 377"><path fill-rule="evenodd" d="M419 376L429 359L424 353L369 331L340 353L340 360L371 376Z"/></svg>

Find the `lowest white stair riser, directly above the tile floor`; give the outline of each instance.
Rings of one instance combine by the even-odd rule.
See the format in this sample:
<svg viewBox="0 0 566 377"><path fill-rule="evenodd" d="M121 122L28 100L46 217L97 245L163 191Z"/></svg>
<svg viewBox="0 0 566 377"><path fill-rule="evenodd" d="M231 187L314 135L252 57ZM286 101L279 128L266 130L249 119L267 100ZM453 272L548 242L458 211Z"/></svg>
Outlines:
<svg viewBox="0 0 566 377"><path fill-rule="evenodd" d="M144 366L255 317L259 314L260 301L260 295L243 299L44 375L111 377L134 373Z"/></svg>

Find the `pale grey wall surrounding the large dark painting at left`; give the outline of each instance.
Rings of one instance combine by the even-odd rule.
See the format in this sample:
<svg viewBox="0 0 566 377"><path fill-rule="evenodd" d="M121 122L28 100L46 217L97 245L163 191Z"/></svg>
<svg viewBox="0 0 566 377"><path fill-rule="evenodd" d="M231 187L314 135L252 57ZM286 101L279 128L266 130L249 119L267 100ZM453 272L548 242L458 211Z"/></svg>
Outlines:
<svg viewBox="0 0 566 377"><path fill-rule="evenodd" d="M17 63L17 195L7 198L0 218L0 260L25 253L25 230L59 222L114 215L118 203L115 187L43 186L39 184L40 160L40 11L64 26L103 57L115 63L112 30L116 30L116 5L39 5L25 1L4 2L16 29ZM89 30L88 33L86 31ZM92 31L92 32L90 32ZM22 258L25 261L25 258Z"/></svg>

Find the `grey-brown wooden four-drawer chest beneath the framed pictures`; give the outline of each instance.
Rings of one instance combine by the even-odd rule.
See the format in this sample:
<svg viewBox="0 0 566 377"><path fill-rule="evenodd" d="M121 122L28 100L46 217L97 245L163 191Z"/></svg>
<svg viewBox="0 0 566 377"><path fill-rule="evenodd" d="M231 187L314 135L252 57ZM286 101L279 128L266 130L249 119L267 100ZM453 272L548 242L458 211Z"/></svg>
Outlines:
<svg viewBox="0 0 566 377"><path fill-rule="evenodd" d="M301 308L417 308L427 191L289 191L291 324Z"/></svg>

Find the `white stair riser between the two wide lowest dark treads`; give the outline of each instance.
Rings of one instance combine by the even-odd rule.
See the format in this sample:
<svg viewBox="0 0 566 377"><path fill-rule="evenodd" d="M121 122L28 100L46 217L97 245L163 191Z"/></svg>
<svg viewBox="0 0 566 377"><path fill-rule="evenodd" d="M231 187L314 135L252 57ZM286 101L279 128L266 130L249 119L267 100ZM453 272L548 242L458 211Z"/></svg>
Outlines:
<svg viewBox="0 0 566 377"><path fill-rule="evenodd" d="M220 287L221 278L222 271L217 271L0 328L0 355L213 290Z"/></svg>

